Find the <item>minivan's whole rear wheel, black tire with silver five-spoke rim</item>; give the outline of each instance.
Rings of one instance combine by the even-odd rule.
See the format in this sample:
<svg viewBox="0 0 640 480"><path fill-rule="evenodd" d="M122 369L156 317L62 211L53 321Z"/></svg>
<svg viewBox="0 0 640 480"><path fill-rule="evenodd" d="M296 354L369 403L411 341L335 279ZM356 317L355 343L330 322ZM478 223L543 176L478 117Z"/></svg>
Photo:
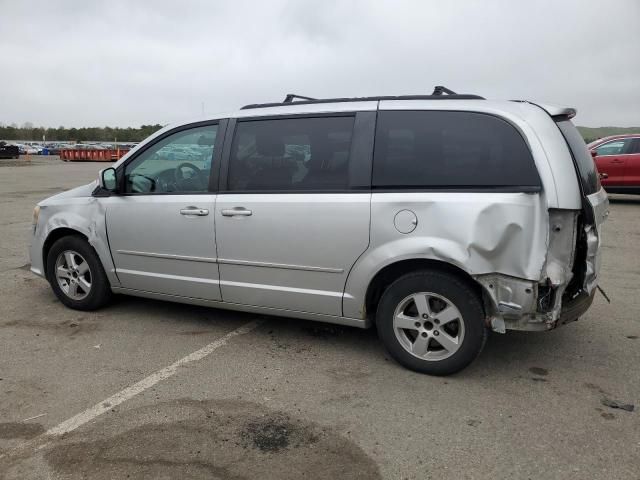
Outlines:
<svg viewBox="0 0 640 480"><path fill-rule="evenodd" d="M404 275L383 293L376 314L379 335L394 359L411 370L449 375L469 365L486 342L482 304L455 275Z"/></svg>

